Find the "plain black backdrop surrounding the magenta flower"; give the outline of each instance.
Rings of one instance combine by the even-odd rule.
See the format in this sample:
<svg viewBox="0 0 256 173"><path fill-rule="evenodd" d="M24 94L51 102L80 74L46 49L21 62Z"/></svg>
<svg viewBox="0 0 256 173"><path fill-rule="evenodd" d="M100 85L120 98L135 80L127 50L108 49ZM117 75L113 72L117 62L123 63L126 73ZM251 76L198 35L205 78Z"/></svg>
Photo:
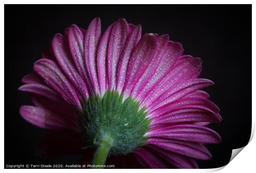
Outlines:
<svg viewBox="0 0 256 173"><path fill-rule="evenodd" d="M86 29L97 16L102 31L123 17L140 23L142 33L170 35L183 44L184 54L202 58L200 77L215 82L205 91L223 117L209 127L223 142L207 145L213 158L198 164L228 164L232 149L246 145L251 134L251 5L5 5L5 165L73 164L79 159L34 154L36 140L47 130L21 118L19 107L31 101L17 89L56 33L73 23Z"/></svg>

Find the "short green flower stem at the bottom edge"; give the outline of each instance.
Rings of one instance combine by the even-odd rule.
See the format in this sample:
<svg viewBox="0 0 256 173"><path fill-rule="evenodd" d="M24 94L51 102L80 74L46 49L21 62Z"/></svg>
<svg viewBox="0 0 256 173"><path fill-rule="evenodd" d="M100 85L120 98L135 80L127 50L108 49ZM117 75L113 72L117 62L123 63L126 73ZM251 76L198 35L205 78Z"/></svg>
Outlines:
<svg viewBox="0 0 256 173"><path fill-rule="evenodd" d="M113 144L112 138L110 138L109 136L104 136L104 138L99 142L97 150L93 156L92 164L105 165L105 162L112 144ZM102 167L94 167L94 168L102 168Z"/></svg>

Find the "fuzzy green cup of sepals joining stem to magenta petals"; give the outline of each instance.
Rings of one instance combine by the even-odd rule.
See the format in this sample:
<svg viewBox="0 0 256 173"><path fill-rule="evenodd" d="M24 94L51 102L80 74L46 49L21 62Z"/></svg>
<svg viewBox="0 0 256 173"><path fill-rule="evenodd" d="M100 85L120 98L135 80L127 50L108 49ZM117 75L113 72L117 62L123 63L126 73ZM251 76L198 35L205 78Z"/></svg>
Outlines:
<svg viewBox="0 0 256 173"><path fill-rule="evenodd" d="M103 98L90 96L83 102L79 119L89 145L108 154L128 154L138 146L145 145L150 120L145 108L139 110L139 102L130 96L123 101L123 94L107 91Z"/></svg>

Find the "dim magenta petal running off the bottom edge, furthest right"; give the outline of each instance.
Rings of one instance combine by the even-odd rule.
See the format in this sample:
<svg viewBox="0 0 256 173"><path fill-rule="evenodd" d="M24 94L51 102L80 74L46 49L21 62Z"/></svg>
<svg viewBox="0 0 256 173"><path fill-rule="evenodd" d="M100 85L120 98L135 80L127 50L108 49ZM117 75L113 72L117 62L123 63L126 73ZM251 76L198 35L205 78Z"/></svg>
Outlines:
<svg viewBox="0 0 256 173"><path fill-rule="evenodd" d="M168 163L173 165L175 168L180 168L180 169L197 169L198 168L196 161L189 157L184 157L180 154L175 154L173 152L163 150L153 145L146 145L145 147L149 148L149 150L152 150L152 152L158 154L159 157L164 158Z"/></svg>

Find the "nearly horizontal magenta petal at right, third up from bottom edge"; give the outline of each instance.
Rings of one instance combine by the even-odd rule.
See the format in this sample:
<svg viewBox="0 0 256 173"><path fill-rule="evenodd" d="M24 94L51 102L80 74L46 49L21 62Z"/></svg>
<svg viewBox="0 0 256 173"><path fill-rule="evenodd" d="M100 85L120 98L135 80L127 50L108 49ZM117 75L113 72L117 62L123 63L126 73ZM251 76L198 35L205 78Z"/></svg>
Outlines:
<svg viewBox="0 0 256 173"><path fill-rule="evenodd" d="M215 131L204 127L190 124L153 127L145 136L164 138L171 140L183 140L195 143L220 143L221 138Z"/></svg>

